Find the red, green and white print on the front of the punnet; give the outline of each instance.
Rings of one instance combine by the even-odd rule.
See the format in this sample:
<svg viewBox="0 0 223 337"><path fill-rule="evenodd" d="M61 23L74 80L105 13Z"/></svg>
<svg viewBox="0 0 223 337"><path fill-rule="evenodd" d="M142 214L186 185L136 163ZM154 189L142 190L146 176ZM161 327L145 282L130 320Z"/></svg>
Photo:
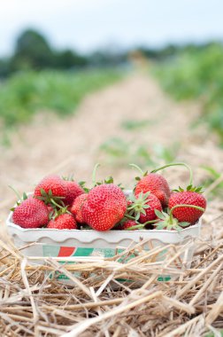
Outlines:
<svg viewBox="0 0 223 337"><path fill-rule="evenodd" d="M87 248L87 247L59 247L59 246L42 246L42 255L47 257L67 257L67 256L104 256L106 257L113 257L114 255L120 254L124 251L124 249L113 249L113 248ZM162 252L161 255L158 256L158 261L164 259L165 251ZM122 255L120 256L118 262L119 263L127 263L135 257L135 254L132 255ZM60 261L59 263L74 263L74 262L63 262ZM74 272L73 275L75 277L81 277L80 272ZM69 279L65 274L62 274L59 271L53 272L50 274L50 278L57 278L59 279ZM158 281L169 281L171 277L169 275L163 275L158 277ZM119 280L121 282L129 281L127 279Z"/></svg>

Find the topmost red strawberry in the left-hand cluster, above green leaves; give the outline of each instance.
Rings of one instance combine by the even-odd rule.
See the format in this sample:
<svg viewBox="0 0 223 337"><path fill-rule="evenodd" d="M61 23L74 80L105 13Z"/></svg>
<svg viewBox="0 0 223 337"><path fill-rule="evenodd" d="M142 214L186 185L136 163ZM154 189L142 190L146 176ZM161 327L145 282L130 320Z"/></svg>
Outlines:
<svg viewBox="0 0 223 337"><path fill-rule="evenodd" d="M43 194L42 191L44 192ZM67 195L65 181L57 175L45 176L35 187L34 195L48 203L50 202L50 197L60 197L64 200Z"/></svg>

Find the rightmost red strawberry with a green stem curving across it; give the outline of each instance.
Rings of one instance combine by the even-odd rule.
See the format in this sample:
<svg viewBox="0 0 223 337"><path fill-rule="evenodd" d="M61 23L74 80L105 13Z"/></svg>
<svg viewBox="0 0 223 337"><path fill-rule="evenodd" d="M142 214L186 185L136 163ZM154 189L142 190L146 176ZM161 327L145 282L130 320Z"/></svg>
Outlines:
<svg viewBox="0 0 223 337"><path fill-rule="evenodd" d="M173 192L169 200L169 208L172 209L176 205L194 205L205 209L206 200L200 192L196 191L197 189L195 188L194 191L190 191L188 188L188 191L180 189L179 192ZM203 214L203 210L196 208L181 207L173 209L173 216L178 219L178 221L190 224L196 223Z"/></svg>

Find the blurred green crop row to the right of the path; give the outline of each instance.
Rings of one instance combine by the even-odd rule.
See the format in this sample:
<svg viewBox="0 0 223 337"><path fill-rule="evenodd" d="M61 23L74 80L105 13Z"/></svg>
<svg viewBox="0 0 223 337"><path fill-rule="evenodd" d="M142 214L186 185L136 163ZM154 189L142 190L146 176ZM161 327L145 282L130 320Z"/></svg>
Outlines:
<svg viewBox="0 0 223 337"><path fill-rule="evenodd" d="M154 73L173 98L200 98L204 121L223 142L223 45L211 43L202 50L181 52L158 64Z"/></svg>

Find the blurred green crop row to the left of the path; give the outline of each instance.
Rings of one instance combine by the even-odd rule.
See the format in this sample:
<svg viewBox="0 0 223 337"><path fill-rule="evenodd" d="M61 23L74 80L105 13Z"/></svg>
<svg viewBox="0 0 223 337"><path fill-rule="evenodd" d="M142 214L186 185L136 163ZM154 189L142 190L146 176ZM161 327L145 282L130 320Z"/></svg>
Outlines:
<svg viewBox="0 0 223 337"><path fill-rule="evenodd" d="M118 81L121 73L113 69L79 72L24 72L0 83L0 124L12 127L30 121L38 111L72 114L89 92Z"/></svg>

